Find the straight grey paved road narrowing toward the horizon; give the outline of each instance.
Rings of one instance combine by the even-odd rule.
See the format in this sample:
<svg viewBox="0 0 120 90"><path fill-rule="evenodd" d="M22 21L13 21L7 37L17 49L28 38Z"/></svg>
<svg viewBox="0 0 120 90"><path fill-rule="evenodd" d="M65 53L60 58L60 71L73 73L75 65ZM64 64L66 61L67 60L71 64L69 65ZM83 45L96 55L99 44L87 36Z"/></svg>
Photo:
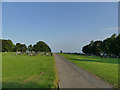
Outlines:
<svg viewBox="0 0 120 90"><path fill-rule="evenodd" d="M60 88L112 88L65 58L54 54L59 74Z"/></svg>

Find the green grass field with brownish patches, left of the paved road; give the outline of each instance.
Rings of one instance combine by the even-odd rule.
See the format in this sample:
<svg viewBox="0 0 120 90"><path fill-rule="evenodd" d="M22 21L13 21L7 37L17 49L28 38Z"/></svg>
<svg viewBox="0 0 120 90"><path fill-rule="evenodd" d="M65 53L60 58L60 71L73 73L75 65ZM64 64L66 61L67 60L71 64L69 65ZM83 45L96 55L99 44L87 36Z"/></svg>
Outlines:
<svg viewBox="0 0 120 90"><path fill-rule="evenodd" d="M55 88L54 56L2 53L3 88Z"/></svg>

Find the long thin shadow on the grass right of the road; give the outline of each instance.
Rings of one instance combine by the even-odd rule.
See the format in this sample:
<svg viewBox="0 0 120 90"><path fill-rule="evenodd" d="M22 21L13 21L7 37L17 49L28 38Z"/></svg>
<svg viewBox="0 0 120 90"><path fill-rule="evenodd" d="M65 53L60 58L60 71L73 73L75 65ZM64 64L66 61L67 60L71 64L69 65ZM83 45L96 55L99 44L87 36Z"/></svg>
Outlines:
<svg viewBox="0 0 120 90"><path fill-rule="evenodd" d="M99 63L111 63L111 64L120 64L120 62L118 62L118 60L105 60L105 59L101 59L101 60L86 60L86 59L74 59L74 58L69 58L69 60L75 60L75 61L85 61L85 62L99 62Z"/></svg>

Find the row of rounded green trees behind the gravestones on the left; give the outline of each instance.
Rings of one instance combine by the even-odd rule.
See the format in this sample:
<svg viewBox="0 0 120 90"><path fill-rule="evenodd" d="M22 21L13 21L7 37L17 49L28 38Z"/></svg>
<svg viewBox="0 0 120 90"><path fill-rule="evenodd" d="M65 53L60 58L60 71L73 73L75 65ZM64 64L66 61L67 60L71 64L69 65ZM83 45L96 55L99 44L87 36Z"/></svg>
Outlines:
<svg viewBox="0 0 120 90"><path fill-rule="evenodd" d="M2 52L26 52L26 51L35 51L35 52L51 52L50 47L43 41L39 41L36 44L29 45L28 47L25 44L16 43L13 44L11 40L0 39L0 46L2 45Z"/></svg>

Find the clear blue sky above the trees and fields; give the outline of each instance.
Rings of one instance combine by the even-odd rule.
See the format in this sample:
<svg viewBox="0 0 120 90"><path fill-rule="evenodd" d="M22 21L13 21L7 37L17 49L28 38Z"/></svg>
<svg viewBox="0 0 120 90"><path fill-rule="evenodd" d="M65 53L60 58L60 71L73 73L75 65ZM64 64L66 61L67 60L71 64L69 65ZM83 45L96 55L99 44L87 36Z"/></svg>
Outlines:
<svg viewBox="0 0 120 90"><path fill-rule="evenodd" d="M91 40L118 33L117 2L3 2L2 38L45 41L52 52L82 52Z"/></svg>

